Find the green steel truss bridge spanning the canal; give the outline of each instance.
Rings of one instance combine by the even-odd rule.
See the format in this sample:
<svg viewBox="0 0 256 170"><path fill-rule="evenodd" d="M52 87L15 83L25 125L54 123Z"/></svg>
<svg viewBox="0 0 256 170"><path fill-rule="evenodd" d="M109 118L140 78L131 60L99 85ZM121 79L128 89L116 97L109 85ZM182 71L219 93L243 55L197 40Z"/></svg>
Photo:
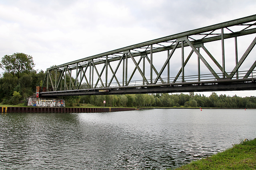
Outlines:
<svg viewBox="0 0 256 170"><path fill-rule="evenodd" d="M256 90L255 33L253 15L53 66L40 96Z"/></svg>

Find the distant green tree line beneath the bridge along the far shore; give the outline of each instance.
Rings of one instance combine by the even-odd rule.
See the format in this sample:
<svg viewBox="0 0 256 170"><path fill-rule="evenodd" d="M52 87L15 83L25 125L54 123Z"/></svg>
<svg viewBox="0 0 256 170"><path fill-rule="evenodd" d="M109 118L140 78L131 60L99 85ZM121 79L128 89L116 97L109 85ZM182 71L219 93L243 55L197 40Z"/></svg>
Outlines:
<svg viewBox="0 0 256 170"><path fill-rule="evenodd" d="M219 107L219 108L256 108L256 97L217 95L209 97L194 94L125 94L102 96L77 96L79 103L109 107Z"/></svg>

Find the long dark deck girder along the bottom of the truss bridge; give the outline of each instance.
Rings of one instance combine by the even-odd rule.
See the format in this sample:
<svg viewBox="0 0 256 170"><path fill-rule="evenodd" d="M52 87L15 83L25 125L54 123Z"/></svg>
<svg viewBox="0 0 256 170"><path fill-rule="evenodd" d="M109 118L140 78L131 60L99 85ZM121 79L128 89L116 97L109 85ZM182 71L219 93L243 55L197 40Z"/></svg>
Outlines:
<svg viewBox="0 0 256 170"><path fill-rule="evenodd" d="M212 91L239 91L255 90L256 82L239 83L218 83L218 84L190 84L183 86L158 86L158 87L138 87L138 88L113 88L107 92L100 92L95 89L86 90L65 90L58 92L46 92L44 97L55 96L84 96L84 95L111 95L111 94L154 94L154 93L178 93L178 92L212 92Z"/></svg>

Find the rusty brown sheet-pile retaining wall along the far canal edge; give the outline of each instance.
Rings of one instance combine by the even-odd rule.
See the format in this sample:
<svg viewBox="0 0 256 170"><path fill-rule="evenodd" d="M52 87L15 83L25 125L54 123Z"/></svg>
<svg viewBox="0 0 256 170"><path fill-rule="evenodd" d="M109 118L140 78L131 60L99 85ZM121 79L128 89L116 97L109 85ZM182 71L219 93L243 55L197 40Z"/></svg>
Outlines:
<svg viewBox="0 0 256 170"><path fill-rule="evenodd" d="M0 112L24 112L24 113L93 113L130 111L135 108L104 107L104 108L73 108L73 107L0 107Z"/></svg>

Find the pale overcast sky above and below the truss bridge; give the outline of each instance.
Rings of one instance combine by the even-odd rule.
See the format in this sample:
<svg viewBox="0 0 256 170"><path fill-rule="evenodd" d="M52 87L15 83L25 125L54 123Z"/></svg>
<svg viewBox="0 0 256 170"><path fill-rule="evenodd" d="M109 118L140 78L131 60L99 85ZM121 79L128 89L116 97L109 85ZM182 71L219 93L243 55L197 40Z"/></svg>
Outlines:
<svg viewBox="0 0 256 170"><path fill-rule="evenodd" d="M35 69L255 14L255 0L0 0L0 56ZM204 94L207 95L206 92ZM254 91L219 92L256 96Z"/></svg>

